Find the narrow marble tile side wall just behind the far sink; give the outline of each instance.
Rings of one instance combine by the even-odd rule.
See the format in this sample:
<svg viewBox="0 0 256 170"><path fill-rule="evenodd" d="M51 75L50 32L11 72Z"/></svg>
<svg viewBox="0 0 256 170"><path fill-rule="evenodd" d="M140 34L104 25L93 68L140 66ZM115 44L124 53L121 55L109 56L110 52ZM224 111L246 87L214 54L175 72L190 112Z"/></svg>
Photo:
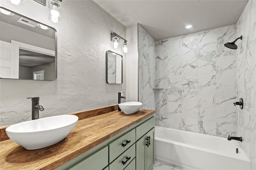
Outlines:
<svg viewBox="0 0 256 170"><path fill-rule="evenodd" d="M155 87L155 41L138 24L138 101L142 109L156 109Z"/></svg>

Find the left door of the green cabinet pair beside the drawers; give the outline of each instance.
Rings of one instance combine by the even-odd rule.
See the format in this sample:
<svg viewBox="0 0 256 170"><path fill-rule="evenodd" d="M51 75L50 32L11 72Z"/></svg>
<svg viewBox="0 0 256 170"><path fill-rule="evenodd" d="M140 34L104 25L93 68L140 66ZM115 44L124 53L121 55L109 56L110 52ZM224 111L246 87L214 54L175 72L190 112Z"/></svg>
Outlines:
<svg viewBox="0 0 256 170"><path fill-rule="evenodd" d="M145 170L146 135L136 142L136 170Z"/></svg>

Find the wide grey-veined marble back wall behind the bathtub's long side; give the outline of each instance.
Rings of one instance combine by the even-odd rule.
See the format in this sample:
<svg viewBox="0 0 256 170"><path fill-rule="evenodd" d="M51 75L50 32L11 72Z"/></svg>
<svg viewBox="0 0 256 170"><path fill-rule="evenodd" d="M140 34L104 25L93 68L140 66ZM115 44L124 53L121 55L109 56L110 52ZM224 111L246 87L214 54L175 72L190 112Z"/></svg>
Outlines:
<svg viewBox="0 0 256 170"><path fill-rule="evenodd" d="M156 41L156 125L236 135L236 25Z"/></svg>

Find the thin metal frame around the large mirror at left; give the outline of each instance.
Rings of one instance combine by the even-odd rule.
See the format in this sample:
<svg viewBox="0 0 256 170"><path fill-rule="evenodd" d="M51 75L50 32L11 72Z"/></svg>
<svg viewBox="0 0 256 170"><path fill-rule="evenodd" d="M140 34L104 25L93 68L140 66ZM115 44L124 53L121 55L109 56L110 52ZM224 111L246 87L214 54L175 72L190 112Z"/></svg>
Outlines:
<svg viewBox="0 0 256 170"><path fill-rule="evenodd" d="M27 19L29 19L29 20L31 20L31 21L34 21L34 22L36 22L36 23L40 23L40 24L42 24L42 25L46 25L46 24L44 24L44 23L41 23L41 22L38 22L38 21L36 21L36 20L33 20L33 19L31 19L31 18L28 18L28 17L26 17L26 16L23 16L23 15L21 15L21 14L18 14L17 12L14 12L14 11L12 11L12 10L9 10L9 9L7 9L7 8L4 8L4 7L2 7L2 6L0 6L0 8L2 8L2 9L4 9L4 10L7 10L7 11L9 11L9 12L12 12L13 14L16 14L16 15L18 15L18 16L20 16L20 17L24 17L24 18L27 18ZM2 14L1 14L2 15ZM3 14L4 15L4 14ZM54 80L56 80L57 79L57 30L54 28L54 27L51 27L51 26L49 26L49 25L46 25L47 27L49 27L49 28L51 28L51 29L53 29L54 31L55 31L55 79ZM1 78L1 77L0 77ZM2 78L2 79L12 79L12 80L32 80L32 79L22 79L22 78ZM36 80L36 81L54 81L54 80Z"/></svg>

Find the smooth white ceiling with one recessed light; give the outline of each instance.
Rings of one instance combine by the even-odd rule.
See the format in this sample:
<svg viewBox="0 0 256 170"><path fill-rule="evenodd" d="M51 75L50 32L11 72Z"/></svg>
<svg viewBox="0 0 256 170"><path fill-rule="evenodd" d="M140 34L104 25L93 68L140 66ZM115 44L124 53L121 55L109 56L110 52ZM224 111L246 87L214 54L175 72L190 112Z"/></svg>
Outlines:
<svg viewBox="0 0 256 170"><path fill-rule="evenodd" d="M235 24L248 0L94 0L126 27L140 23L154 40ZM191 29L185 25L192 24Z"/></svg>

